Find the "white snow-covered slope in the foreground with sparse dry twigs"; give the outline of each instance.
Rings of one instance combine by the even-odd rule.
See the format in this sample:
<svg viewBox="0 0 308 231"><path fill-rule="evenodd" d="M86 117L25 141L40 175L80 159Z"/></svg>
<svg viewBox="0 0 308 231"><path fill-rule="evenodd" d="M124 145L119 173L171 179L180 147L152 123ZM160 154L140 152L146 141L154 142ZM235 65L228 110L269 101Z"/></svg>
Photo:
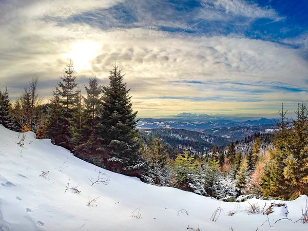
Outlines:
<svg viewBox="0 0 308 231"><path fill-rule="evenodd" d="M18 138L19 136L19 138ZM12 132L0 125L0 230L308 230L308 224L293 223L301 217L306 196L287 201L290 220L280 220L283 209L267 217L248 214L248 202L221 202L216 222L211 215L215 199L175 188L156 187L139 179L98 168L75 158L50 140L36 140L32 132ZM64 164L63 164L64 163ZM110 178L108 185L94 184L99 171ZM48 177L40 177L49 171ZM69 188L65 192L69 180ZM71 187L79 185L80 194ZM97 198L87 206L90 198ZM261 207L266 202L249 200ZM276 201L278 202L278 201ZM138 211L141 217L137 219ZM137 210L136 210L137 209ZM185 209L188 215L184 210ZM134 211L136 210L136 211ZM228 216L234 210L234 216ZM134 211L134 212L133 212ZM182 213L183 212L183 213ZM133 213L133 214L132 214ZM266 221L262 226L261 224ZM269 228L271 224L271 228ZM191 229L190 229L191 230Z"/></svg>

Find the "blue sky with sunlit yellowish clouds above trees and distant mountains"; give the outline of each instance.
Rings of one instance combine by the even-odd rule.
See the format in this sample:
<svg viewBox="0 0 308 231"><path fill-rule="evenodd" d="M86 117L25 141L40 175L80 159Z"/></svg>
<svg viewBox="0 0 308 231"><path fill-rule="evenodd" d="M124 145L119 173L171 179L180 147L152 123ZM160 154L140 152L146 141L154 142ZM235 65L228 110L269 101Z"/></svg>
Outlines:
<svg viewBox="0 0 308 231"><path fill-rule="evenodd" d="M307 100L307 12L291 0L0 0L0 83L15 98L37 75L47 100L70 59L81 86L107 84L117 63L140 117L271 117Z"/></svg>

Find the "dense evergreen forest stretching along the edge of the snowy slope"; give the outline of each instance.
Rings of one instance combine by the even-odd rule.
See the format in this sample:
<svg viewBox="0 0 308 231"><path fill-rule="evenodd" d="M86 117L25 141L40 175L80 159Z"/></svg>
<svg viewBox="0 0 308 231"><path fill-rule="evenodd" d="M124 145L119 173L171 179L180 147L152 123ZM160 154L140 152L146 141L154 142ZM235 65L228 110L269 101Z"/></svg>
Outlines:
<svg viewBox="0 0 308 231"><path fill-rule="evenodd" d="M137 112L132 110L123 78L122 69L113 66L109 85L100 86L98 78L89 78L83 95L69 63L46 103L37 93L37 77L13 104L8 89L0 91L0 123L15 131L33 131L38 139L51 139L87 162L158 186L230 201L242 194L281 199L308 194L308 112L304 103L298 104L295 120L289 121L285 111L279 112L275 137L255 134L229 143L225 150L221 146L227 144L226 139L214 141L196 133L187 144L208 149L206 155L196 155L189 145L179 149L170 145L187 140L188 131L167 131L172 136L161 130L149 132L151 135L139 133ZM266 149L264 143L271 147ZM241 144L244 152L238 148Z"/></svg>

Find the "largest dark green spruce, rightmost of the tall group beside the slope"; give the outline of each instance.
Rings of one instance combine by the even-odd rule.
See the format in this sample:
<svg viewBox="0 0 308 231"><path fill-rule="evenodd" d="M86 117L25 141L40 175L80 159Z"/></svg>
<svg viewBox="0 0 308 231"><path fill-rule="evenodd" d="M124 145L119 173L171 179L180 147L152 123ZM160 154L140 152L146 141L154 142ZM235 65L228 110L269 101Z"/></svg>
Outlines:
<svg viewBox="0 0 308 231"><path fill-rule="evenodd" d="M103 152L103 164L109 170L140 176L140 153L137 112L132 111L131 97L122 70L109 70L109 85L103 87L97 133Z"/></svg>

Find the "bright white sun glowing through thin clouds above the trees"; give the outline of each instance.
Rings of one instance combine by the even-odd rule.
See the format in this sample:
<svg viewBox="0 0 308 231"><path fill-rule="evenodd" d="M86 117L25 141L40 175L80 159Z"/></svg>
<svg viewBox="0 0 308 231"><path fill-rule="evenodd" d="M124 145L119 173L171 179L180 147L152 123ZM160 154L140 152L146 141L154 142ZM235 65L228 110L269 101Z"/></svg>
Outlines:
<svg viewBox="0 0 308 231"><path fill-rule="evenodd" d="M98 55L100 45L93 41L76 42L71 46L71 50L65 53L64 59L73 61L74 69L78 72L91 69L91 60Z"/></svg>

